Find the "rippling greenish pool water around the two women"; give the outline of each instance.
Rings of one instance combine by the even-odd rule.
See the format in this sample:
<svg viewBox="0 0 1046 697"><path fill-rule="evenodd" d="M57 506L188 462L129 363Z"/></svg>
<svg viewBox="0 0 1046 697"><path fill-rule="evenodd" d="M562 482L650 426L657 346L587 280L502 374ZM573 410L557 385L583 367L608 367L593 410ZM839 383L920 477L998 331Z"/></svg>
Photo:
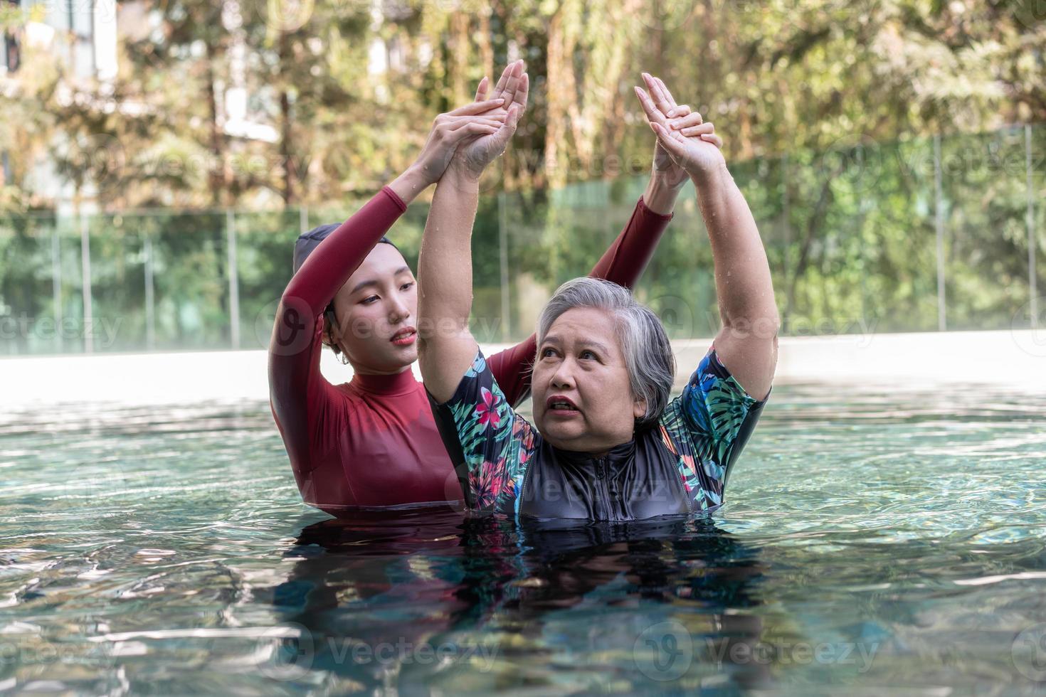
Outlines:
<svg viewBox="0 0 1046 697"><path fill-rule="evenodd" d="M710 517L304 507L268 404L0 422L0 692L1046 694L1046 396L778 386Z"/></svg>

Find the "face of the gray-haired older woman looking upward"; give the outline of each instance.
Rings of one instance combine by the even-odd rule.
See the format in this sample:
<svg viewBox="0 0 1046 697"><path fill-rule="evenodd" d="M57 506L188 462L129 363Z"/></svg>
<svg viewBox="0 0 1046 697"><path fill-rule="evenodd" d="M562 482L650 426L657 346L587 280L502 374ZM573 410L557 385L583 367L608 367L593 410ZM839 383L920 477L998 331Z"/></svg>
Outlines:
<svg viewBox="0 0 1046 697"><path fill-rule="evenodd" d="M632 438L645 405L632 397L614 318L593 307L561 315L538 347L535 425L564 450L601 454Z"/></svg>

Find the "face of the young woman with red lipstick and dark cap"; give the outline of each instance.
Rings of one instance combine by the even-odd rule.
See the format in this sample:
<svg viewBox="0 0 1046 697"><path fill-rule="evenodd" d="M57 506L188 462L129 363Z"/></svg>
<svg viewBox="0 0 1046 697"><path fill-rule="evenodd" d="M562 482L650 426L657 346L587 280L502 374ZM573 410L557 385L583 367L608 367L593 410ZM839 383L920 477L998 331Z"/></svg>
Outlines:
<svg viewBox="0 0 1046 697"><path fill-rule="evenodd" d="M376 245L334 298L327 341L359 373L399 373L417 361L417 282L391 245Z"/></svg>

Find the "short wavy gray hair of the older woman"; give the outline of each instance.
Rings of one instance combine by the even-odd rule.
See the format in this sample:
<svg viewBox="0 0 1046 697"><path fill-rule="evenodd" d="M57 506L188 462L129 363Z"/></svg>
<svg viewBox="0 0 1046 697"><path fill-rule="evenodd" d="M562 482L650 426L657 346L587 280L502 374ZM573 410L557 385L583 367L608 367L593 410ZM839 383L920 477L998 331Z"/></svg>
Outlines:
<svg viewBox="0 0 1046 697"><path fill-rule="evenodd" d="M668 405L676 378L676 356L664 325L654 311L632 297L628 288L599 278L575 278L555 289L538 318L538 346L552 323L568 309L594 307L613 313L615 332L624 354L635 399L646 400L646 413L636 428L653 425Z"/></svg>

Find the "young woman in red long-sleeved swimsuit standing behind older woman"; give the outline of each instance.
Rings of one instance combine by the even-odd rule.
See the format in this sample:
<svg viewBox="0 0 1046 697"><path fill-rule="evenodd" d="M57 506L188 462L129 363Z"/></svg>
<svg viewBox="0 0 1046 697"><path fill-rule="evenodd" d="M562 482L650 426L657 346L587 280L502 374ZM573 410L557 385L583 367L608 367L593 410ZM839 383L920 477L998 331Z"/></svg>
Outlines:
<svg viewBox="0 0 1046 697"><path fill-rule="evenodd" d="M306 504L339 515L356 507L461 498L425 389L410 370L417 359L418 286L384 235L407 204L440 179L457 150L478 137L507 139L515 132L528 84L522 61L505 68L492 99L485 98L484 77L475 102L436 118L420 156L403 175L340 226L299 238L296 273L269 348L269 388ZM658 149L646 192L593 276L635 283L685 181ZM424 295L426 279L420 283ZM336 386L320 374L324 345L353 366L351 381ZM513 404L527 395L535 353L531 336L490 358Z"/></svg>

